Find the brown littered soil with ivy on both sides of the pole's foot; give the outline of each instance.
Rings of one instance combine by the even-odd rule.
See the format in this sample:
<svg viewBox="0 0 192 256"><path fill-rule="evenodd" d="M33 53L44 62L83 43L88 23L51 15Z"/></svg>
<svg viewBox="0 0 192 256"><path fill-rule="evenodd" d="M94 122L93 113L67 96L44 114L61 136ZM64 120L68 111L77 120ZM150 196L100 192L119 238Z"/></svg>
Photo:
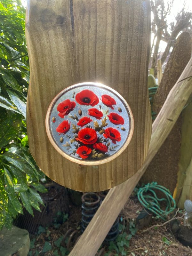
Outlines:
<svg viewBox="0 0 192 256"><path fill-rule="evenodd" d="M40 226L39 234L31 236L29 256L68 255L81 235L81 207L69 204L69 208L68 219L63 224L54 224L49 228L42 228ZM135 197L128 200L120 214L120 220L124 226L120 235L122 233L130 233L129 222L135 219L141 210L142 206ZM182 213L178 213L177 217L181 215ZM146 231L150 226L161 224L163 226L154 227ZM113 242L113 244L116 244L116 242ZM123 254L117 253L115 250L109 250L108 244L103 244L102 247L105 252L100 254L100 256L192 256L192 249L183 246L174 238L170 229L170 223L164 225L163 220L156 219L152 219L148 227L139 230L132 236L129 246L125 246Z"/></svg>

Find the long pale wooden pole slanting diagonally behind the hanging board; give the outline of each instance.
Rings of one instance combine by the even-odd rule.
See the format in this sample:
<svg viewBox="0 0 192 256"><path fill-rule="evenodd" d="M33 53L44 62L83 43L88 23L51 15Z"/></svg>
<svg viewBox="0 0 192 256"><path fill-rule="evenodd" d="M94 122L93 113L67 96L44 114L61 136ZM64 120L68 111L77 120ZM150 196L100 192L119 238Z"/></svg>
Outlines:
<svg viewBox="0 0 192 256"><path fill-rule="evenodd" d="M153 123L146 161L133 177L109 190L100 208L69 254L70 256L95 255L139 179L172 130L191 93L192 58L168 94L164 106Z"/></svg>

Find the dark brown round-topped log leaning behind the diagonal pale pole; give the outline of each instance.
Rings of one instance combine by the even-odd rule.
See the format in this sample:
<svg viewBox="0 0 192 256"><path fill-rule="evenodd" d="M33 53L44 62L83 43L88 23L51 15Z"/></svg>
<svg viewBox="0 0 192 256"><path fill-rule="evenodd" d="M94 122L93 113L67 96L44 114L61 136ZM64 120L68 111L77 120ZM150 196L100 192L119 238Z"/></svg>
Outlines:
<svg viewBox="0 0 192 256"><path fill-rule="evenodd" d="M174 45L163 78L154 96L152 110L157 114L162 108L168 93L177 82L177 79L190 59L191 45L190 34L183 32ZM148 166L148 169L140 182L148 183L156 181L159 185L168 188L173 194L177 184L177 173L179 171L180 144L181 116L178 118L172 131L159 149L153 161Z"/></svg>

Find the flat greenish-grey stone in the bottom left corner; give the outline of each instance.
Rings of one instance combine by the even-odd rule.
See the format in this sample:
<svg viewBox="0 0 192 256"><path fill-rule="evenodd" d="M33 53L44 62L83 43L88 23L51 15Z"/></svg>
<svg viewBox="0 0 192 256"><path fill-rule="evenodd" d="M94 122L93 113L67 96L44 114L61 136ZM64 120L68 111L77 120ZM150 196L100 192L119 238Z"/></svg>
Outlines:
<svg viewBox="0 0 192 256"><path fill-rule="evenodd" d="M28 231L13 226L0 230L0 254L3 256L27 256L30 248Z"/></svg>

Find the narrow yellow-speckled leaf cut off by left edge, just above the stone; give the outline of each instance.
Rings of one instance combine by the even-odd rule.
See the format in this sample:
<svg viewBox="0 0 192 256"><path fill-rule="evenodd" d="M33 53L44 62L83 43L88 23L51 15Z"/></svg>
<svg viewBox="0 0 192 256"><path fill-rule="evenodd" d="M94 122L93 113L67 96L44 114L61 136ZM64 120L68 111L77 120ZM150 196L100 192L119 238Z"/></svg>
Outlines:
<svg viewBox="0 0 192 256"><path fill-rule="evenodd" d="M3 227L8 212L8 197L0 179L0 229Z"/></svg>

